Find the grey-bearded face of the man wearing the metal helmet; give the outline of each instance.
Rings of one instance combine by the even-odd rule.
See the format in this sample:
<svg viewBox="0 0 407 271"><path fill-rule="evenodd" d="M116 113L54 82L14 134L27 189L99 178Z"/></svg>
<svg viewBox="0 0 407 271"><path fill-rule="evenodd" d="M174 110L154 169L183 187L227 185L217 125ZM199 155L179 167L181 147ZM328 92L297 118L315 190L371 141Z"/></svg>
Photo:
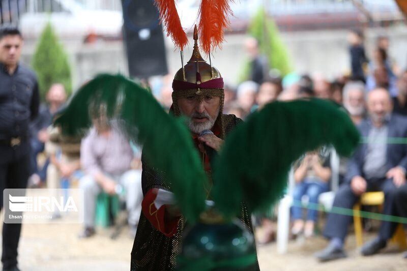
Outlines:
<svg viewBox="0 0 407 271"><path fill-rule="evenodd" d="M195 134L210 130L215 124L220 110L220 97L205 96L200 102L193 95L178 99L181 114L189 118L189 129Z"/></svg>

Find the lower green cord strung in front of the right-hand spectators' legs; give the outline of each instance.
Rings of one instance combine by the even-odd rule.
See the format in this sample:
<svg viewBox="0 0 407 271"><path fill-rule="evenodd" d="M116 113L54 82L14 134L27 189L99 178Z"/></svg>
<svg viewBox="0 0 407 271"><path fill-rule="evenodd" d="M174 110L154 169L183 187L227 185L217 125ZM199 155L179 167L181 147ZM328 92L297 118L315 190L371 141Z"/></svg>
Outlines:
<svg viewBox="0 0 407 271"><path fill-rule="evenodd" d="M372 212L366 212L366 211L361 211L361 210L357 211L357 213L359 213L359 215L357 215L357 214L354 214L353 209L336 207L336 206L332 206L331 210L328 211L324 208L324 205L322 205L322 204L318 204L318 203L302 204L302 202L299 200L295 200L293 202L293 205L297 206L297 207L307 208L307 209L322 210L326 213L333 213L333 214L352 216L352 217L359 216L362 218L407 224L407 218L404 218L404 217L383 215L383 214L379 214L379 213L372 213Z"/></svg>

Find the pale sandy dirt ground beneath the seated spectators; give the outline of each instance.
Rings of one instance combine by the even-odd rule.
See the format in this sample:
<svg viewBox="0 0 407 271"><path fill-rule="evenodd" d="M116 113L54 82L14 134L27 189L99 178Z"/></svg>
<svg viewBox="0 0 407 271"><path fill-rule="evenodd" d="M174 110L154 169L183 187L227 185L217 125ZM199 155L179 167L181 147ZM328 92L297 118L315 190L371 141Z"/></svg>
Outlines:
<svg viewBox="0 0 407 271"><path fill-rule="evenodd" d="M111 229L99 229L88 239L78 239L79 224L25 224L19 245L19 266L28 270L129 270L133 239L124 228L110 239ZM365 234L366 239L373 235ZM407 259L391 245L383 253L362 257L355 249L355 239L347 240L348 258L318 263L313 253L322 249L322 237L291 241L288 253L277 254L276 244L258 247L260 269L267 270L407 270Z"/></svg>

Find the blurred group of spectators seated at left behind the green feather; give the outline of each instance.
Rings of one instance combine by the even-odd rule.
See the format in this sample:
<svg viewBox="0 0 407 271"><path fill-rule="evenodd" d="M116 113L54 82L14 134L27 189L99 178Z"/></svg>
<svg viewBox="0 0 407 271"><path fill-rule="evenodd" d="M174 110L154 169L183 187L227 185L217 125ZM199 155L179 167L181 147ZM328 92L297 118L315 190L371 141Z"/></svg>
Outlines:
<svg viewBox="0 0 407 271"><path fill-rule="evenodd" d="M118 195L125 202L130 235L134 237L143 197L139 149L125 138L117 125L95 114L93 128L84 138L63 135L51 123L65 100L64 87L61 84L51 86L47 94L48 107L44 106L32 123L32 160L35 163L29 185L42 187L46 181L47 188L60 189L69 188L73 179L78 180L78 187L84 194L84 227L79 237L95 233L98 195L102 192ZM39 154L46 157L41 167L37 163ZM56 212L52 218L59 219L61 214Z"/></svg>

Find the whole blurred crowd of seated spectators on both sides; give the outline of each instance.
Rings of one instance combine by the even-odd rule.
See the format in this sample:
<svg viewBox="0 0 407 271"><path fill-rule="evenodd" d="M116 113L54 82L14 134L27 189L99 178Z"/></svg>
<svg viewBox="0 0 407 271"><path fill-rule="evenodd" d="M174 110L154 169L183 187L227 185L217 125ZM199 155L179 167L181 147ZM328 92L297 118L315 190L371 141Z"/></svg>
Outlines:
<svg viewBox="0 0 407 271"><path fill-rule="evenodd" d="M386 55L377 49L375 61L384 62ZM317 97L341 104L350 115L362 135L363 143L354 155L340 158L339 189L333 206L352 209L361 195L370 191L384 193L383 214L407 217L407 144L392 142L394 138L407 138L407 71L388 75L389 65L371 63L371 73L364 78L342 76L330 82L321 75L289 74L284 78L268 76L259 82L245 81L236 88L225 86L225 113L240 118L261 110L267 103L280 100ZM381 70L384 69L381 74ZM381 76L382 75L382 76ZM388 76L387 76L388 75ZM236 91L235 91L236 89ZM157 97L163 108L171 105L171 88L163 83ZM85 194L85 219L82 237L95 233L96 198L107 194L122 194L128 211L128 223L135 234L142 200L140 155L129 141L117 131L114 123L106 119L93 119L94 127L83 139L63 137L51 124L52 115L66 101L63 87L56 84L47 95L48 108L42 119L33 123L33 161L39 153L47 154L44 168L33 162L31 185L47 182L49 188L60 188L61 180L79 179L79 187ZM317 204L321 193L330 191L332 178L329 152L321 149L305 154L294 169L295 201L306 195L308 202ZM46 169L46 166L48 168ZM43 173L47 171L47 175ZM295 236L313 236L318 212L308 209L304 220L301 206L292 207ZM267 243L273 239L275 230L268 218L262 218ZM265 222L266 221L266 222ZM269 221L269 222L267 222ZM344 243L352 216L329 213L323 230L329 240L328 246L316 253L321 261L345 257ZM377 236L367 242L361 252L372 255L385 248L393 236L397 223L382 221Z"/></svg>

